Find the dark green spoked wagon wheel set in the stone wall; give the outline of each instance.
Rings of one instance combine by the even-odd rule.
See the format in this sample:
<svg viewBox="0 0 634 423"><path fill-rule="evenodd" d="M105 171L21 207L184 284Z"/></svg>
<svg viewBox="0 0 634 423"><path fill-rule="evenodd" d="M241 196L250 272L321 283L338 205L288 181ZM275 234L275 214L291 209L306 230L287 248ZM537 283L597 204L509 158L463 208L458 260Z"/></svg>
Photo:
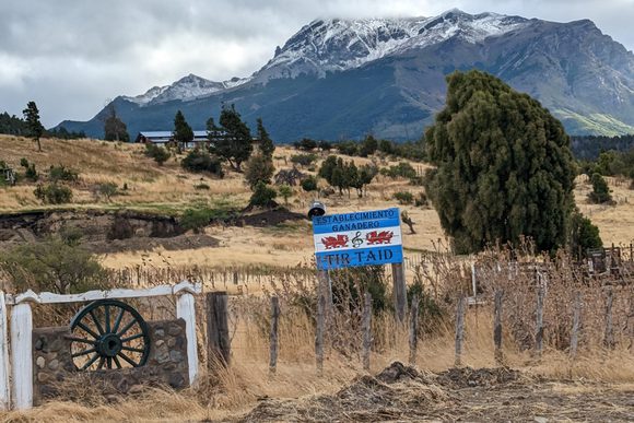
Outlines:
<svg viewBox="0 0 634 423"><path fill-rule="evenodd" d="M150 355L150 332L139 312L116 299L97 299L70 322L71 357L80 371L139 367Z"/></svg>

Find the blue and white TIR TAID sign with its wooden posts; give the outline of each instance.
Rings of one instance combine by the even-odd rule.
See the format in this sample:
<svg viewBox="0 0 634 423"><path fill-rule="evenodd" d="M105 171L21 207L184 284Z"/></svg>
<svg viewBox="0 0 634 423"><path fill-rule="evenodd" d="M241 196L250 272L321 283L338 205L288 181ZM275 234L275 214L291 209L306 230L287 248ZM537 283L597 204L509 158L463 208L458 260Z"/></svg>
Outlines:
<svg viewBox="0 0 634 423"><path fill-rule="evenodd" d="M320 290L326 289L328 270L391 265L396 316L404 321L407 290L398 208L314 216L313 239Z"/></svg>

